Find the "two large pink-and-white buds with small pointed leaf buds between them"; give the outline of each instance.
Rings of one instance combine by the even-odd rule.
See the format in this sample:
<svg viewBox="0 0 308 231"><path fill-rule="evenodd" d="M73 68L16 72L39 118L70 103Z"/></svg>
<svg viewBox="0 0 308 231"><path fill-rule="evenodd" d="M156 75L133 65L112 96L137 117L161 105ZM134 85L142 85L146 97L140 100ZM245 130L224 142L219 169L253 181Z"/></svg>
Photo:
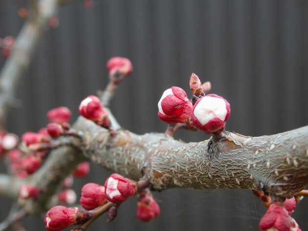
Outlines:
<svg viewBox="0 0 308 231"><path fill-rule="evenodd" d="M186 123L210 134L224 131L225 121L230 117L230 104L221 96L205 95L209 82L201 84L198 76L190 77L192 102L179 87L167 89L158 101L158 117L166 123Z"/></svg>

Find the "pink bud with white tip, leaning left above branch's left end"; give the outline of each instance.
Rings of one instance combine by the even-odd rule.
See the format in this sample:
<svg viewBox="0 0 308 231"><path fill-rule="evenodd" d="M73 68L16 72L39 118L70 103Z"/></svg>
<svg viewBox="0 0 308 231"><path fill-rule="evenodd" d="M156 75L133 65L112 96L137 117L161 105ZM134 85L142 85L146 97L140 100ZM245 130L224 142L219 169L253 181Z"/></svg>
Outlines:
<svg viewBox="0 0 308 231"><path fill-rule="evenodd" d="M104 128L111 125L108 112L102 107L99 98L96 96L88 96L82 100L79 105L79 113Z"/></svg>

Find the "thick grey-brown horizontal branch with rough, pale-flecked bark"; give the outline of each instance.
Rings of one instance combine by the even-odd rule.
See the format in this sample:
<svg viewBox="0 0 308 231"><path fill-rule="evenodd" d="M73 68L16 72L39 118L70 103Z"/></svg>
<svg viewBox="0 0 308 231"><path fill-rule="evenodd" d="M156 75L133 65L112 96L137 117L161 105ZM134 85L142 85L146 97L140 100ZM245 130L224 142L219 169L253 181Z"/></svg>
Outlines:
<svg viewBox="0 0 308 231"><path fill-rule="evenodd" d="M115 136L79 118L84 153L95 163L139 179L156 190L242 188L290 197L308 182L308 127L260 137L225 132L219 140L183 143L169 135Z"/></svg>

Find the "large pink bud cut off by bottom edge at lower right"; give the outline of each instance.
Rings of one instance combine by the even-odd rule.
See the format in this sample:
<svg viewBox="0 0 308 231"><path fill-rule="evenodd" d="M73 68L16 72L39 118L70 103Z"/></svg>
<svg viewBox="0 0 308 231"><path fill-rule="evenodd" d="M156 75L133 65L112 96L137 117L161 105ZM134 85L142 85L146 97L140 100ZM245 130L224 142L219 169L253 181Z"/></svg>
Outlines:
<svg viewBox="0 0 308 231"><path fill-rule="evenodd" d="M262 231L279 230L289 231L291 219L286 209L279 202L273 202L264 216L261 218L259 227Z"/></svg>

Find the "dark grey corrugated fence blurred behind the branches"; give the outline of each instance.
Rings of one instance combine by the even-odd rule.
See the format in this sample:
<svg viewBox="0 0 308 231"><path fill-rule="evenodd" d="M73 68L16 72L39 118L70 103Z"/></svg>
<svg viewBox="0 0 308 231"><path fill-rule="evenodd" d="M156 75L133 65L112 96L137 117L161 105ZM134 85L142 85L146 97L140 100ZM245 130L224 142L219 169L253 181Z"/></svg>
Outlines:
<svg viewBox="0 0 308 231"><path fill-rule="evenodd" d="M0 38L18 35L24 22L18 9L26 5L0 1ZM307 0L94 0L92 8L76 1L58 18L20 82L20 105L7 120L10 132L39 130L46 112L61 105L72 110L73 122L80 101L106 85L106 62L113 56L130 58L134 67L111 105L119 123L134 133L164 132L157 102L171 86L188 93L192 72L230 102L227 130L258 136L308 124ZM180 131L176 138L208 136ZM76 193L109 174L93 164L89 176L75 181ZM265 212L248 190L174 189L154 197L161 207L156 220L138 221L131 198L113 222L103 216L89 231L257 231ZM10 203L0 198L0 220ZM304 199L294 213L302 230L308 230L307 207ZM44 230L41 217L23 224L28 231Z"/></svg>

